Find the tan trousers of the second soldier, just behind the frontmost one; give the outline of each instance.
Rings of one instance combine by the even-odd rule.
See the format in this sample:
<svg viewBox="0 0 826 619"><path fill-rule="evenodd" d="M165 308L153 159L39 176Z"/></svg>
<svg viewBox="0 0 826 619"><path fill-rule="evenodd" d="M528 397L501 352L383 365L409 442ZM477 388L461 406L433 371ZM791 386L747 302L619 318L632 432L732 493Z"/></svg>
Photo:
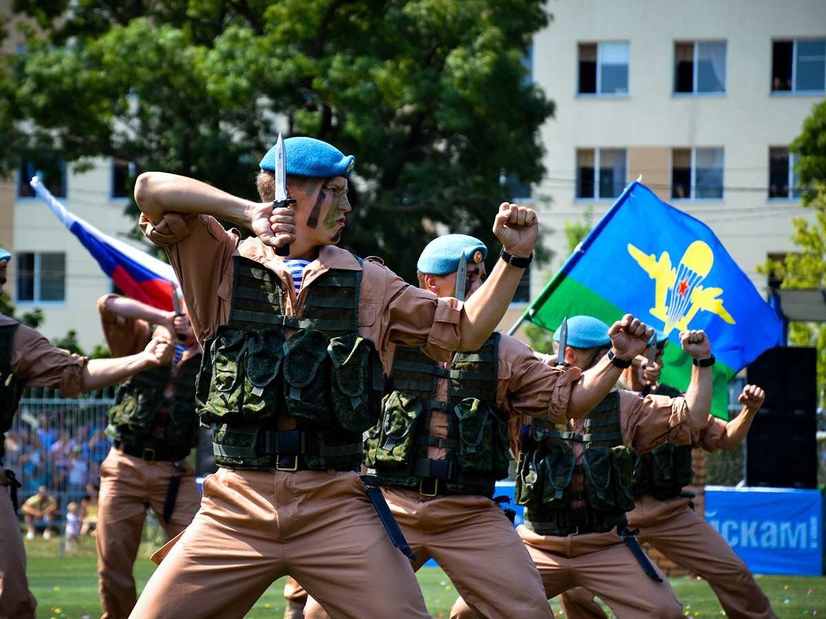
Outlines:
<svg viewBox="0 0 826 619"><path fill-rule="evenodd" d="M458 593L484 617L553 617L534 562L510 520L491 499L423 497L398 488L382 488L382 492L418 557L413 569L436 560ZM327 615L310 599L304 617Z"/></svg>

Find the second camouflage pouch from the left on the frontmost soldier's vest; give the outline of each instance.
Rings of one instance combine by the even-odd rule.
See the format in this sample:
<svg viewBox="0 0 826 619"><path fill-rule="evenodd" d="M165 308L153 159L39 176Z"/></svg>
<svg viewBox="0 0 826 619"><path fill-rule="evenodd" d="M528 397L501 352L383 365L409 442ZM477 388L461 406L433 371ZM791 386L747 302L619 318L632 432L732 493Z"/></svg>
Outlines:
<svg viewBox="0 0 826 619"><path fill-rule="evenodd" d="M244 418L260 421L278 415L281 393L273 380L281 373L283 346L280 328L249 332L244 354Z"/></svg>

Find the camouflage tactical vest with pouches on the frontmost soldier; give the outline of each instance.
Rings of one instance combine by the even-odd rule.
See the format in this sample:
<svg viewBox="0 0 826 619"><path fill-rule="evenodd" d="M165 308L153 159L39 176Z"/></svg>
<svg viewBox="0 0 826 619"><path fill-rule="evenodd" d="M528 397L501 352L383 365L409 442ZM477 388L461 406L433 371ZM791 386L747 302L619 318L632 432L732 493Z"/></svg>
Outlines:
<svg viewBox="0 0 826 619"><path fill-rule="evenodd" d="M266 469L288 451L311 470L358 467L382 390L375 346L358 333L362 272L319 276L296 318L284 314L275 273L249 258L234 261L230 319L204 345L196 390L216 463ZM296 332L287 339L284 328ZM299 432L277 432L283 416ZM284 446L287 436L295 440Z"/></svg>

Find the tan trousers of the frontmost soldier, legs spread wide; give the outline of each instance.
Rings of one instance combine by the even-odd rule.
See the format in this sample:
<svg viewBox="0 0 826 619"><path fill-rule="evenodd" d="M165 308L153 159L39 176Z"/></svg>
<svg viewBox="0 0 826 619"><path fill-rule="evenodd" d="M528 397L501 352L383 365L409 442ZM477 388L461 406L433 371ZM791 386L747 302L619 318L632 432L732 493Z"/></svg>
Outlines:
<svg viewBox="0 0 826 619"><path fill-rule="evenodd" d="M131 617L244 617L292 574L333 617L430 617L353 472L221 468Z"/></svg>

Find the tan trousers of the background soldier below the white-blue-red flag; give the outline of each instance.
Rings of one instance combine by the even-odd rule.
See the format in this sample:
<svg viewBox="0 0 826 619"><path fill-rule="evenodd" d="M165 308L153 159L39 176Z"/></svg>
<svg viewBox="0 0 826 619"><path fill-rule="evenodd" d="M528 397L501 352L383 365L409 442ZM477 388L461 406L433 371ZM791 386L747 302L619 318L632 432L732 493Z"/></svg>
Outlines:
<svg viewBox="0 0 826 619"><path fill-rule="evenodd" d="M192 467L186 462L182 465L184 472L175 508L167 524L161 515L173 475L172 462L146 462L114 447L102 462L95 534L102 619L126 619L135 606L132 567L138 555L147 504L169 537L182 532L195 517L201 492Z"/></svg>

